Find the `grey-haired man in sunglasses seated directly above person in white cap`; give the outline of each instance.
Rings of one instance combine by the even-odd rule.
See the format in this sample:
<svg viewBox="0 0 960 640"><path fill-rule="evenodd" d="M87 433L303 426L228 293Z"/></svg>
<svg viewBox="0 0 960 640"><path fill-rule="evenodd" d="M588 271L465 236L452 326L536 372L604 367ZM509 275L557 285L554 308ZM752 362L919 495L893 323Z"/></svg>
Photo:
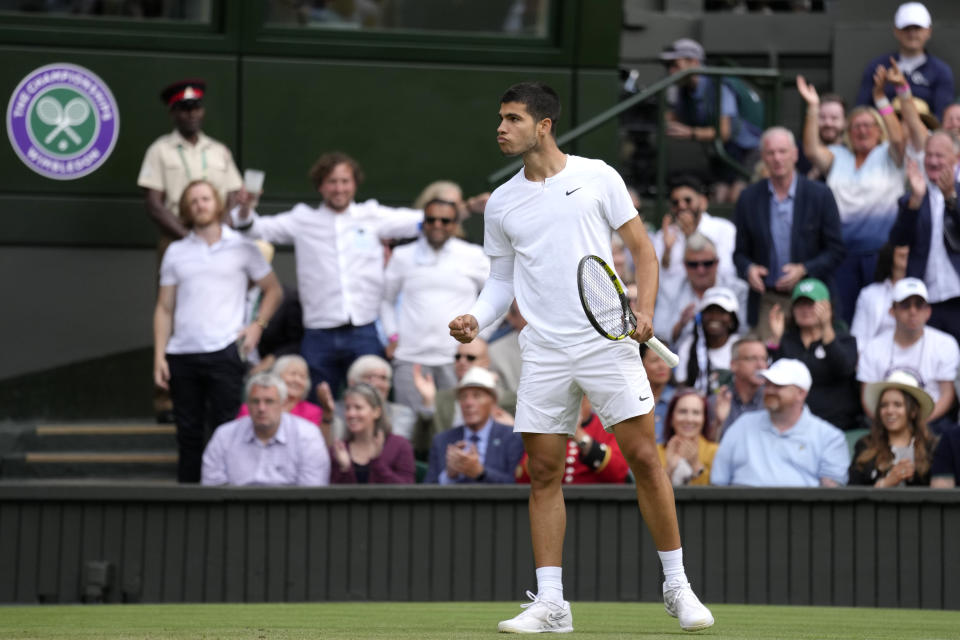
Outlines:
<svg viewBox="0 0 960 640"><path fill-rule="evenodd" d="M719 272L719 259L714 243L699 231L686 238L683 252L684 278L673 286L660 289L653 313L653 330L671 343L676 343L692 327L697 308L707 289L727 287L737 299L737 316L747 311L747 284L739 278Z"/></svg>

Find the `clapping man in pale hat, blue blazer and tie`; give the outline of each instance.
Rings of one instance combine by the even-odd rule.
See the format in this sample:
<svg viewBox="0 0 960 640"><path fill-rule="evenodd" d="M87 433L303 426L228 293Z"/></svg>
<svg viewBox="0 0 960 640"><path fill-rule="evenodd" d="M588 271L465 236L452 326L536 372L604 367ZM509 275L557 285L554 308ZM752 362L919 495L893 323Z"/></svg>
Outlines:
<svg viewBox="0 0 960 640"><path fill-rule="evenodd" d="M467 371L457 385L463 424L438 433L430 447L424 482L512 483L523 457L523 440L513 427L495 422L495 376L481 367Z"/></svg>

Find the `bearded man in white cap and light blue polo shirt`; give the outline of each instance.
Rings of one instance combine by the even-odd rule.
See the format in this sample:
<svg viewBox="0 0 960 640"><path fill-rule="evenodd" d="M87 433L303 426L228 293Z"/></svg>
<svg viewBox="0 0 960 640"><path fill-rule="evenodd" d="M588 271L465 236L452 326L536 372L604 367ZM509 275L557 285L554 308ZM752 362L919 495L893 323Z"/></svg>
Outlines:
<svg viewBox="0 0 960 640"><path fill-rule="evenodd" d="M810 412L812 379L799 360L781 358L764 371L764 411L741 415L723 433L710 484L836 487L847 483L850 452L843 432Z"/></svg>

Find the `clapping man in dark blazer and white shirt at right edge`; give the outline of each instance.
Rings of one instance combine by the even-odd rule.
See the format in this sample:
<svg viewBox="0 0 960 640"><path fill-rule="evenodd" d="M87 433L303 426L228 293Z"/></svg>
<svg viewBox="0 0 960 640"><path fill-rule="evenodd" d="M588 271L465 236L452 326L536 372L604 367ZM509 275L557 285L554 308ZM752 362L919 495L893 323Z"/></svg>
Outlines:
<svg viewBox="0 0 960 640"><path fill-rule="evenodd" d="M928 324L960 342L960 207L955 177L958 147L960 141L945 131L927 138L923 155L926 180L916 164L908 163L910 190L900 198L890 242L910 247L907 275L927 285L931 308Z"/></svg>

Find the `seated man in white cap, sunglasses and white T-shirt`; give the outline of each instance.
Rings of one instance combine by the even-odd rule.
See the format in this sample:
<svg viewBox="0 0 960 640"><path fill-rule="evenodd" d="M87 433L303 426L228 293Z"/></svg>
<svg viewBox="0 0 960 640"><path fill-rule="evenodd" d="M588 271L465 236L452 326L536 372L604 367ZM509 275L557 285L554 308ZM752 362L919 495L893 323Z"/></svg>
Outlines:
<svg viewBox="0 0 960 640"><path fill-rule="evenodd" d="M902 278L893 285L890 315L896 327L869 341L860 351L857 380L861 391L867 383L886 379L893 371L906 371L915 377L935 402L927 420L937 435L954 426L953 381L960 366L960 349L948 333L927 326L930 304L927 287L917 278ZM864 413L873 417L873 410L861 396Z"/></svg>

